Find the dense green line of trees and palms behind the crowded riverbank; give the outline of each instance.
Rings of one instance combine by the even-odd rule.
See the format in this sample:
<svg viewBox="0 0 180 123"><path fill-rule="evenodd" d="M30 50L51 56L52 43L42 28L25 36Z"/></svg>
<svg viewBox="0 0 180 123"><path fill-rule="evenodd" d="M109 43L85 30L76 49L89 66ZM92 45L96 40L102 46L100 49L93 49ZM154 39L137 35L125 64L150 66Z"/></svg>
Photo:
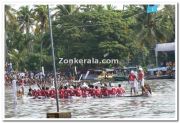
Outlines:
<svg viewBox="0 0 180 123"><path fill-rule="evenodd" d="M150 14L146 7L126 5L122 10L112 5L51 7L57 68L68 66L58 64L62 57L119 59L117 66L154 64L155 44L174 42L175 6L165 5ZM19 9L5 5L5 56L6 62L12 62L18 71L38 71L41 66L52 70L46 5L25 5ZM168 58L164 55L161 60Z"/></svg>

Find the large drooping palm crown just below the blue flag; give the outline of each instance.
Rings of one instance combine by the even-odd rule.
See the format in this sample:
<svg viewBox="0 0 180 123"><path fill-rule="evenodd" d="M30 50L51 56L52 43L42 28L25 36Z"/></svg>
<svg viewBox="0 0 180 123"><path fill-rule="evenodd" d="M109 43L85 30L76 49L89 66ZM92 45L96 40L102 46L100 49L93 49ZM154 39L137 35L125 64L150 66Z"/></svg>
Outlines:
<svg viewBox="0 0 180 123"><path fill-rule="evenodd" d="M166 8L154 14L146 12L146 5L139 7L129 6L128 8L128 11L133 10L133 12L129 12L130 15L126 15L126 17L135 20L131 28L135 32L134 37L139 41L138 43L142 46L152 47L158 42L166 42L168 40L167 35L169 32L163 28L171 25L171 22L165 23L165 18L170 16L170 14L165 14Z"/></svg>

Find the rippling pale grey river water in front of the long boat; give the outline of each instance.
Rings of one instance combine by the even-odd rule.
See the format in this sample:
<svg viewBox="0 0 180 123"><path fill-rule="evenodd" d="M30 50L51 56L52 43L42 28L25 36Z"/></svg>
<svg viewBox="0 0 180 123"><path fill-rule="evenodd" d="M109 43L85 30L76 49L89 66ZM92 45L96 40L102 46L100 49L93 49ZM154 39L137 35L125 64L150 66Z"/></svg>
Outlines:
<svg viewBox="0 0 180 123"><path fill-rule="evenodd" d="M174 80L147 82L152 87L152 97L60 100L60 111L71 112L72 118L175 118ZM125 82L122 85L129 89ZM53 99L25 98L14 105L12 95L11 88L6 87L5 118L46 118L47 112L56 112Z"/></svg>

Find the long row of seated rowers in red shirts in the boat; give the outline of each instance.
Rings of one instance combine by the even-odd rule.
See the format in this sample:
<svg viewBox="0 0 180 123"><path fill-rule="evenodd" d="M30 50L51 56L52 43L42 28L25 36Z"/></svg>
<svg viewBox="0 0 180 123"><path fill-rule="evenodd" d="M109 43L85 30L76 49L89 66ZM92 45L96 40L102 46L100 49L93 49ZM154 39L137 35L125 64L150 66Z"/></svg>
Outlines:
<svg viewBox="0 0 180 123"><path fill-rule="evenodd" d="M112 88L107 88L101 87L99 88L98 86L89 86L89 88L81 88L81 87L76 87L74 86L73 88L70 87L68 88L67 86L60 87L58 89L58 95L59 98L69 98L72 96L77 96L77 97L102 97L102 96L110 96L110 95L115 95L115 96L123 96L125 93L125 89L121 86L121 84L118 85L118 87L112 87ZM32 90L31 88L29 89L29 96L33 97L40 97L40 96L45 96L45 97L51 97L55 98L56 97L56 91L54 88L49 89L49 88L42 88L41 90Z"/></svg>

